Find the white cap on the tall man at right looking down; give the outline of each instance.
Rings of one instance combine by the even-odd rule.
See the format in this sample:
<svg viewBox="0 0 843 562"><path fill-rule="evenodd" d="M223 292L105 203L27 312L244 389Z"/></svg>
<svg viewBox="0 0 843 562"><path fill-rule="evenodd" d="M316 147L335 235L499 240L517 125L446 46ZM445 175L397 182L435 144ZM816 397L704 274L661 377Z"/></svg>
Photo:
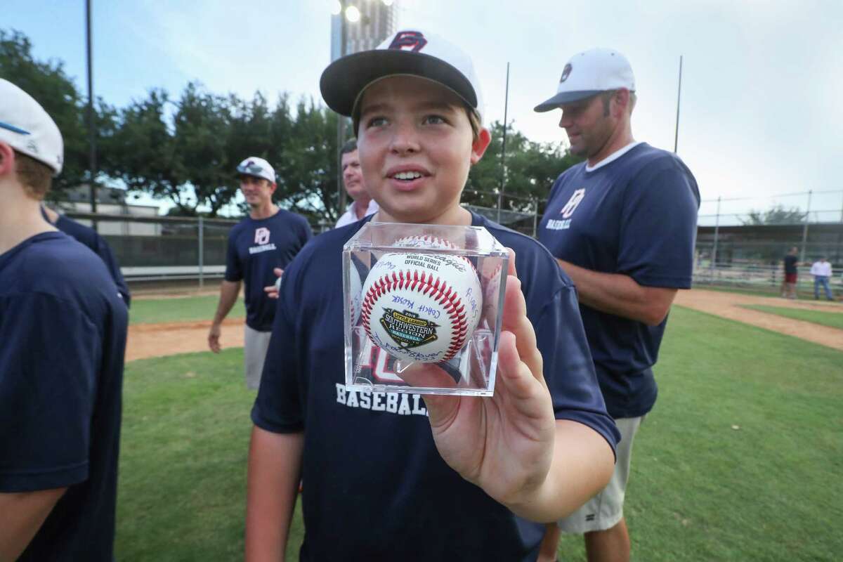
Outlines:
<svg viewBox="0 0 843 562"><path fill-rule="evenodd" d="M535 106L535 111L555 110L561 104L571 104L580 99L626 88L635 91L635 76L626 56L614 49L591 49L571 57L565 68L556 95Z"/></svg>

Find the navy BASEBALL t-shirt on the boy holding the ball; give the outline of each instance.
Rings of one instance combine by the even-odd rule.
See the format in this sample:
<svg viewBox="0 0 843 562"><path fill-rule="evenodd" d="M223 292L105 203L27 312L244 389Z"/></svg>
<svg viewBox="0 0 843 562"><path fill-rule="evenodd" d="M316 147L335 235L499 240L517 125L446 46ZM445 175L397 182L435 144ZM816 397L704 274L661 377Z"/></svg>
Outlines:
<svg viewBox="0 0 843 562"><path fill-rule="evenodd" d="M534 560L545 527L516 517L439 456L419 394L346 389L342 245L363 219L315 238L285 271L252 420L304 431L302 560ZM614 448L577 295L532 238L473 216L515 250L557 419ZM389 377L374 348L370 368Z"/></svg>

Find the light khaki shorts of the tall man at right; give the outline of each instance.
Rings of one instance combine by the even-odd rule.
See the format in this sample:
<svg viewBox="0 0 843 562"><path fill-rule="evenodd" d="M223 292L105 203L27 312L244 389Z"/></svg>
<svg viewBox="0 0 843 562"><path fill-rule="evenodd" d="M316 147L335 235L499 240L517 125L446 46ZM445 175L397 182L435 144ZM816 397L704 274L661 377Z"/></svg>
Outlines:
<svg viewBox="0 0 843 562"><path fill-rule="evenodd" d="M624 517L624 495L626 482L630 477L632 441L643 419L644 416L615 420L620 431L620 443L615 450L615 474L612 474L612 479L603 491L565 519L556 522L563 533L605 531L615 527L621 517Z"/></svg>

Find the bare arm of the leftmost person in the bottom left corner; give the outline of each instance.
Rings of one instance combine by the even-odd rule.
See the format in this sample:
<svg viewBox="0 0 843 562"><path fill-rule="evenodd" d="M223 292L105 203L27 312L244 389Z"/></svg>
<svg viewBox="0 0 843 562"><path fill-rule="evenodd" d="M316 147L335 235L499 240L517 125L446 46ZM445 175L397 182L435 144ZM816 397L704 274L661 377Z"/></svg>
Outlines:
<svg viewBox="0 0 843 562"><path fill-rule="evenodd" d="M0 560L16 560L67 488L0 493Z"/></svg>

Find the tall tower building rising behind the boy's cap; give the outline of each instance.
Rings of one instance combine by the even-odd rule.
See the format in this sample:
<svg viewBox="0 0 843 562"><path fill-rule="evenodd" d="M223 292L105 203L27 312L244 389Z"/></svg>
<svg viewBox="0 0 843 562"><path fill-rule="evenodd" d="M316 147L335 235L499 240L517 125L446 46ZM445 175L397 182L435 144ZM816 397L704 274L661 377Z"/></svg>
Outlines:
<svg viewBox="0 0 843 562"><path fill-rule="evenodd" d="M395 0L397 2L398 0ZM395 33L397 11L395 2L384 0L346 0L346 8L355 7L360 17L357 21L346 18L346 55L367 51L380 45ZM330 60L341 56L343 13L330 17Z"/></svg>

